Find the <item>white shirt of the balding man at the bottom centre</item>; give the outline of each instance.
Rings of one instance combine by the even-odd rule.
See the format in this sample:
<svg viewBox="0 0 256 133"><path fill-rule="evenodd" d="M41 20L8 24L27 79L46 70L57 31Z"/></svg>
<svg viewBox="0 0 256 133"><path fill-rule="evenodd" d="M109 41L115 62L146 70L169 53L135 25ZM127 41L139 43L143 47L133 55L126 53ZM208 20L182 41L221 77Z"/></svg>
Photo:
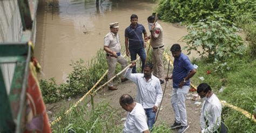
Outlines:
<svg viewBox="0 0 256 133"><path fill-rule="evenodd" d="M136 103L135 107L126 116L123 132L143 132L148 130L146 113L142 105Z"/></svg>

